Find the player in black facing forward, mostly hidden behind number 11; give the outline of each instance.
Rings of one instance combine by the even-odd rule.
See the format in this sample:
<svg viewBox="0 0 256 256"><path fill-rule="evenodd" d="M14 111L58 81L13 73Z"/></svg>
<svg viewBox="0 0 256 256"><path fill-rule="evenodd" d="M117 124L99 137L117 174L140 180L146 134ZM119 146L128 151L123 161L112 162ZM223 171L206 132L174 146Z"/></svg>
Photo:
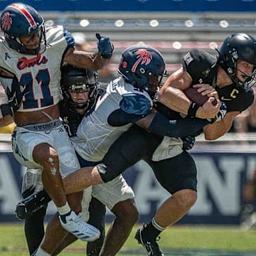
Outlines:
<svg viewBox="0 0 256 256"><path fill-rule="evenodd" d="M75 68L73 65L65 63L61 68L62 79L60 82L63 100L58 105L60 107L60 117L63 125L70 137L75 136L78 124L90 110L96 98L106 87L97 82L97 72ZM23 200L16 206L16 215L24 219L24 230L28 251L33 255L43 240L44 218L46 208L51 201L48 193L43 189L41 181L41 170L27 169L23 176L21 193ZM80 218L94 225L100 230L100 238L87 242L87 255L98 255L105 238L105 206L91 196L92 188L85 189L82 197L82 213ZM89 208L90 203L90 208ZM90 209L90 211L89 211ZM89 218L90 217L90 218ZM58 233L54 234L55 236ZM68 242L72 242L75 236L70 234ZM55 250L55 254L61 250Z"/></svg>

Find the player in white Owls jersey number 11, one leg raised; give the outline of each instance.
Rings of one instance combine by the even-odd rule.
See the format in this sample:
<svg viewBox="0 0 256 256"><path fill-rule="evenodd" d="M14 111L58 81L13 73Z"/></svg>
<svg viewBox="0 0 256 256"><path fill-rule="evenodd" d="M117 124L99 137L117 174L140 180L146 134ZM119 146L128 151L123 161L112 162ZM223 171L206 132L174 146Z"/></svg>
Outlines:
<svg viewBox="0 0 256 256"><path fill-rule="evenodd" d="M16 85L2 84L6 92L12 92L15 108L1 106L0 117L12 114L16 123L14 156L28 168L43 170L43 186L58 208L63 228L81 240L95 240L99 230L70 209L77 206L78 194L65 196L63 188L63 177L80 165L59 118L60 67L65 61L90 70L103 68L112 56L112 43L97 34L98 53L76 51L73 36L63 26L45 28L43 17L21 3L2 11L1 31L0 74L14 78ZM23 97L17 98L15 90L20 87ZM75 211L80 211L79 206Z"/></svg>

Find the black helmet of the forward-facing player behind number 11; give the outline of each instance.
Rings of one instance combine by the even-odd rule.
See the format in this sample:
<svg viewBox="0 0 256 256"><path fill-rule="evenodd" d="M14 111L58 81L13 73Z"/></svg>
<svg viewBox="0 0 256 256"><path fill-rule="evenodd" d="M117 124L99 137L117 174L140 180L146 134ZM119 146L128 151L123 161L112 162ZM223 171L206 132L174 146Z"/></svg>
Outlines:
<svg viewBox="0 0 256 256"><path fill-rule="evenodd" d="M64 63L61 68L60 89L66 104L75 109L90 110L97 98L98 74L96 71L76 68L73 65ZM87 102L73 102L71 92L88 92Z"/></svg>

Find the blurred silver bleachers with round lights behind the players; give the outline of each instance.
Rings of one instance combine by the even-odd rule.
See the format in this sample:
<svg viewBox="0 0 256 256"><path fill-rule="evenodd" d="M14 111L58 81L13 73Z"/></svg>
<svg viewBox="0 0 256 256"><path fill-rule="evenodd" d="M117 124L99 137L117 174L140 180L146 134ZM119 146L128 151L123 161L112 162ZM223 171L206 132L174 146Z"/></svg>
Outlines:
<svg viewBox="0 0 256 256"><path fill-rule="evenodd" d="M70 32L83 32L92 50L97 48L95 32L110 36L114 55L110 70L117 70L124 48L137 43L158 48L172 73L191 48L216 54L231 33L256 36L255 12L125 12L125 11L46 11L46 26L62 24Z"/></svg>

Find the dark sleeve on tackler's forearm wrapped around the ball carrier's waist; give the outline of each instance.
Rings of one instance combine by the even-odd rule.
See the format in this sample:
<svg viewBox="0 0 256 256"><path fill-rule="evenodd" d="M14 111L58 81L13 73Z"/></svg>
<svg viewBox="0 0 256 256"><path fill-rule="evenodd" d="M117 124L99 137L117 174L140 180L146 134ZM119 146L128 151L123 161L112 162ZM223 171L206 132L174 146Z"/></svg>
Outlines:
<svg viewBox="0 0 256 256"><path fill-rule="evenodd" d="M156 113L153 121L149 125L148 132L167 137L186 137L195 134L207 124L210 124L210 122L206 119L183 118L169 120L164 117L164 114Z"/></svg>

